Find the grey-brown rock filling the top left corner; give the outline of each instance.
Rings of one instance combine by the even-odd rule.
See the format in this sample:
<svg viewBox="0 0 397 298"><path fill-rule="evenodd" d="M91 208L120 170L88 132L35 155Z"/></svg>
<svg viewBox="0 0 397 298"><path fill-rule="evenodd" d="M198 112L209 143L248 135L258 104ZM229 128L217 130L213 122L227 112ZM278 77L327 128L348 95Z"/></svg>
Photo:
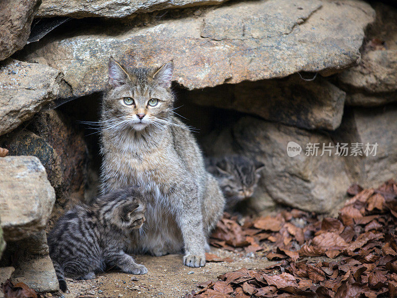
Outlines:
<svg viewBox="0 0 397 298"><path fill-rule="evenodd" d="M24 47L38 4L39 0L0 1L0 61Z"/></svg>

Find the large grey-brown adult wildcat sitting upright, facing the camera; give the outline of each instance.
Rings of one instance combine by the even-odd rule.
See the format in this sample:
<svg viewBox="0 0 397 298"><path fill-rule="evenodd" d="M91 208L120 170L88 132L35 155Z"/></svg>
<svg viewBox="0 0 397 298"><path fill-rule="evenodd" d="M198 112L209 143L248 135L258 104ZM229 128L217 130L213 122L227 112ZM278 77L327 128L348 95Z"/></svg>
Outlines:
<svg viewBox="0 0 397 298"><path fill-rule="evenodd" d="M172 61L136 69L110 59L100 122L101 191L138 184L150 194L146 235L132 241L132 252L160 256L184 249L184 264L200 267L224 198L195 138L173 116L173 69Z"/></svg>

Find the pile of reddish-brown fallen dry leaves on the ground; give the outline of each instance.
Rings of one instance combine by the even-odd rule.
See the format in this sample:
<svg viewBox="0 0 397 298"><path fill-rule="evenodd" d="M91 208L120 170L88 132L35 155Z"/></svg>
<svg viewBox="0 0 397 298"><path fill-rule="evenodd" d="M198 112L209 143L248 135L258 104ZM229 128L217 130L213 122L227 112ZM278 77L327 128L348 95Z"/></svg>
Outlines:
<svg viewBox="0 0 397 298"><path fill-rule="evenodd" d="M391 180L365 190L353 185L348 193L353 197L337 219L319 220L298 210L240 223L226 215L212 245L282 261L226 273L186 297L397 297L397 184ZM308 256L339 257L301 260Z"/></svg>

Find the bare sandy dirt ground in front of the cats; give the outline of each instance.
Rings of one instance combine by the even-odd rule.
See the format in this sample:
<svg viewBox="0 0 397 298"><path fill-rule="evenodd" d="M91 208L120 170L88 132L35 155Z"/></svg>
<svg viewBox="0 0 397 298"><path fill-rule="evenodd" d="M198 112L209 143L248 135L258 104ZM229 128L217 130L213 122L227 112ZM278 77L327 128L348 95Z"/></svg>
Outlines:
<svg viewBox="0 0 397 298"><path fill-rule="evenodd" d="M132 275L118 272L98 274L90 281L66 280L68 291L64 294L47 294L46 297L59 298L105 298L105 297L183 297L187 292L197 290L196 285L228 271L243 267L248 269L265 268L276 262L265 257L245 252L235 253L212 248L212 253L221 257L231 257L233 262L207 262L205 267L190 268L182 264L182 255L152 257L140 255L136 260L148 269L145 275Z"/></svg>

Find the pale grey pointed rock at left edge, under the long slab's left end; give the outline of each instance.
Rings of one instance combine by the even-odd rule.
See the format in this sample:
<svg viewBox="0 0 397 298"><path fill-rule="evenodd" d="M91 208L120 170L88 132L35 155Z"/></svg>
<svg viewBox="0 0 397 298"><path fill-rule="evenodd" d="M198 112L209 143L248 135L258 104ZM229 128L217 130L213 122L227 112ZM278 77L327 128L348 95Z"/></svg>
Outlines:
<svg viewBox="0 0 397 298"><path fill-rule="evenodd" d="M0 66L0 135L56 98L60 80L60 72L51 67L7 59Z"/></svg>

